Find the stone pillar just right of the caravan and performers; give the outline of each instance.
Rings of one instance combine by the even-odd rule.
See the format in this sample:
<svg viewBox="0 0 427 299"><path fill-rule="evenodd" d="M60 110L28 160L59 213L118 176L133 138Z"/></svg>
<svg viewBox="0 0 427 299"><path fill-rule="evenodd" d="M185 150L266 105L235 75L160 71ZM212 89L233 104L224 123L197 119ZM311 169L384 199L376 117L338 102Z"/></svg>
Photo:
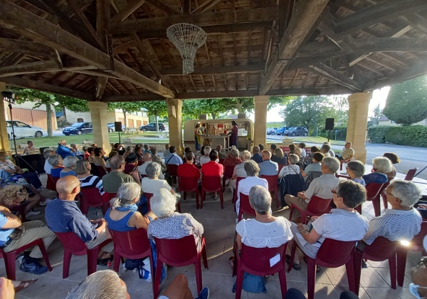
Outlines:
<svg viewBox="0 0 427 299"><path fill-rule="evenodd" d="M268 95L257 95L253 97L255 104L255 122L253 124L253 142L254 145L262 143L265 145L267 142L267 106Z"/></svg>

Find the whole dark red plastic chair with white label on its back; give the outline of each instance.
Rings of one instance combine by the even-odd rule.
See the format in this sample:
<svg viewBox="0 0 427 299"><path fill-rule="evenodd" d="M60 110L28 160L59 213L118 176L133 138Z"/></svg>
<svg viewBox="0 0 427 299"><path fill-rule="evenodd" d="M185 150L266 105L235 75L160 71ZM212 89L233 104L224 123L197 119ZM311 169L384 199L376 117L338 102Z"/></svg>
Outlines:
<svg viewBox="0 0 427 299"><path fill-rule="evenodd" d="M285 252L287 246L288 243L278 248L253 248L242 244L241 254L240 256L237 255L236 299L241 298L244 272L256 276L268 276L278 272L282 298L285 297L286 291L288 290L285 271ZM280 261L273 267L270 267L270 258L278 254L280 255Z"/></svg>

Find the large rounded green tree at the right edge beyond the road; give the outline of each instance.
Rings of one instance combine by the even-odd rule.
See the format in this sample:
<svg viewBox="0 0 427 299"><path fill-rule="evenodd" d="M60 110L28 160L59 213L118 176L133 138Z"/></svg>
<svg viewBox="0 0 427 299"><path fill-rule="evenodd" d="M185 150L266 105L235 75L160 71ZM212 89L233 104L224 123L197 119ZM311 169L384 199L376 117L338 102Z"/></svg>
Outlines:
<svg viewBox="0 0 427 299"><path fill-rule="evenodd" d="M391 86L383 113L397 124L412 125L427 117L426 76Z"/></svg>

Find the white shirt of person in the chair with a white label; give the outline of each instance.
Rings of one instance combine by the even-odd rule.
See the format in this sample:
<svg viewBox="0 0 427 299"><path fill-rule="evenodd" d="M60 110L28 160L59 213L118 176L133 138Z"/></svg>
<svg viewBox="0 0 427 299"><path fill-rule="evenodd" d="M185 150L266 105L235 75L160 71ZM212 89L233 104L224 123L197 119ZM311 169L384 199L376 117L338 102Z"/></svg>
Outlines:
<svg viewBox="0 0 427 299"><path fill-rule="evenodd" d="M268 224L255 219L242 219L236 226L242 243L253 248L278 248L292 239L290 222L283 216Z"/></svg>

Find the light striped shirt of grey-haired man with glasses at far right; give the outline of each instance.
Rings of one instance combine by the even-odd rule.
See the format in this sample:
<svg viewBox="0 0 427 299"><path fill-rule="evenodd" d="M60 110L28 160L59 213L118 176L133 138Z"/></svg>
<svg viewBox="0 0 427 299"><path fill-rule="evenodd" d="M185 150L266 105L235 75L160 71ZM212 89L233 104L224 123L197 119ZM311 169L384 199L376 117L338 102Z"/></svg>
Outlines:
<svg viewBox="0 0 427 299"><path fill-rule="evenodd" d="M410 241L420 232L422 221L416 209L412 208L411 211L386 209L384 215L369 221L369 230L363 241L371 245L379 236L384 236L390 241Z"/></svg>

